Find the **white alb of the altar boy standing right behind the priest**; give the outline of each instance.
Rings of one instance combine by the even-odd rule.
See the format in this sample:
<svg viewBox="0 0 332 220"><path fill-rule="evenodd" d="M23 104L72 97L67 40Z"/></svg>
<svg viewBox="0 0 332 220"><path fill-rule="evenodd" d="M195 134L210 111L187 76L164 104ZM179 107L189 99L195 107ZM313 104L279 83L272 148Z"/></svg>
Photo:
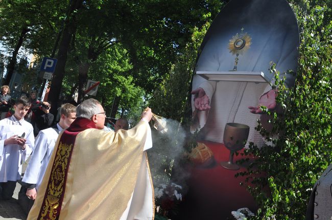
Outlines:
<svg viewBox="0 0 332 220"><path fill-rule="evenodd" d="M36 190L44 177L59 133L63 130L59 124L57 128L57 130L54 128L41 130L36 137L35 149L22 179L22 182L36 184Z"/></svg>

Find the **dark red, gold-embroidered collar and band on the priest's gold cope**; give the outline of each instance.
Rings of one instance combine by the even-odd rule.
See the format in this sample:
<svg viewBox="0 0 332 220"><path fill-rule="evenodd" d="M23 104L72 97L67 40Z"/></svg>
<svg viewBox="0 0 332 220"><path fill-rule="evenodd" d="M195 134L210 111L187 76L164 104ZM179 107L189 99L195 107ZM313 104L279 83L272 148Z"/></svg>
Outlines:
<svg viewBox="0 0 332 220"><path fill-rule="evenodd" d="M59 219L76 136L88 128L96 128L96 126L89 119L76 118L72 125L62 133L38 219Z"/></svg>

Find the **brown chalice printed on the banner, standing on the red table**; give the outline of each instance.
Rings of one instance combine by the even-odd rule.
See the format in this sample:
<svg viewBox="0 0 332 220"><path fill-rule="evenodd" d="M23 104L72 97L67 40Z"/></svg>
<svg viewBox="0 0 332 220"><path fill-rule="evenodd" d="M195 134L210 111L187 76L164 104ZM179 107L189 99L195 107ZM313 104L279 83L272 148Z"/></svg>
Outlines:
<svg viewBox="0 0 332 220"><path fill-rule="evenodd" d="M224 145L230 151L229 160L222 161L226 169L238 170L240 166L233 163L234 152L244 148L249 135L249 126L239 123L227 123L224 130Z"/></svg>

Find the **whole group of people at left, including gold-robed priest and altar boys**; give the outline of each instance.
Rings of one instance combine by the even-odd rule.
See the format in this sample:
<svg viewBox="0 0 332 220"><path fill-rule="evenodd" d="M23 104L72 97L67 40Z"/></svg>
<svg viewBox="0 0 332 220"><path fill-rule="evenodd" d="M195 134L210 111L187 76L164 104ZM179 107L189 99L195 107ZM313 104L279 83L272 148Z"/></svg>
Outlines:
<svg viewBox="0 0 332 220"><path fill-rule="evenodd" d="M152 147L151 109L142 113L133 129L128 130L128 121L120 118L113 131L105 130L106 113L97 100L85 100L77 107L63 104L59 121L53 123L51 103L38 101L36 92L19 97L13 105L9 87L1 87L1 92L1 200L12 198L21 180L19 203L29 213L28 219L77 218L78 213L83 218L153 218L153 187L144 153ZM114 160L119 154L121 159ZM27 160L21 179L22 163ZM77 191L87 183L94 187ZM83 200L73 201L74 195ZM118 197L124 197L121 203ZM107 209L107 204L118 209Z"/></svg>

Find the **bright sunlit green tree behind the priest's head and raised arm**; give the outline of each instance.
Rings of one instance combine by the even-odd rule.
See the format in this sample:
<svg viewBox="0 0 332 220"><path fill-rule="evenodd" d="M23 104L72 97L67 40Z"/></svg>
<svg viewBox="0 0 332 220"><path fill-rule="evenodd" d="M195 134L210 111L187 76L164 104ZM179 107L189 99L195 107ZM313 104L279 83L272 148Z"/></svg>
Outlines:
<svg viewBox="0 0 332 220"><path fill-rule="evenodd" d="M128 117L135 124L139 121L140 113L144 108L143 88L135 85L129 74L132 64L127 51L121 44L107 49L91 67L89 79L99 80L97 99L101 101L107 111L107 116ZM116 108L111 115L112 109Z"/></svg>

